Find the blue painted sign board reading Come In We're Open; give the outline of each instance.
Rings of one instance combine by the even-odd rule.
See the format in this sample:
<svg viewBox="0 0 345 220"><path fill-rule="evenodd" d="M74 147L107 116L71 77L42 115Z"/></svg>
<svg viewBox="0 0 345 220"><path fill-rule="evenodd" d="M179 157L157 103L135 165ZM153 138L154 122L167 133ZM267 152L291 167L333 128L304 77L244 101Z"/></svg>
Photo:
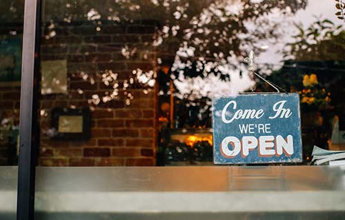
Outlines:
<svg viewBox="0 0 345 220"><path fill-rule="evenodd" d="M241 94L213 100L215 164L302 162L298 94Z"/></svg>

